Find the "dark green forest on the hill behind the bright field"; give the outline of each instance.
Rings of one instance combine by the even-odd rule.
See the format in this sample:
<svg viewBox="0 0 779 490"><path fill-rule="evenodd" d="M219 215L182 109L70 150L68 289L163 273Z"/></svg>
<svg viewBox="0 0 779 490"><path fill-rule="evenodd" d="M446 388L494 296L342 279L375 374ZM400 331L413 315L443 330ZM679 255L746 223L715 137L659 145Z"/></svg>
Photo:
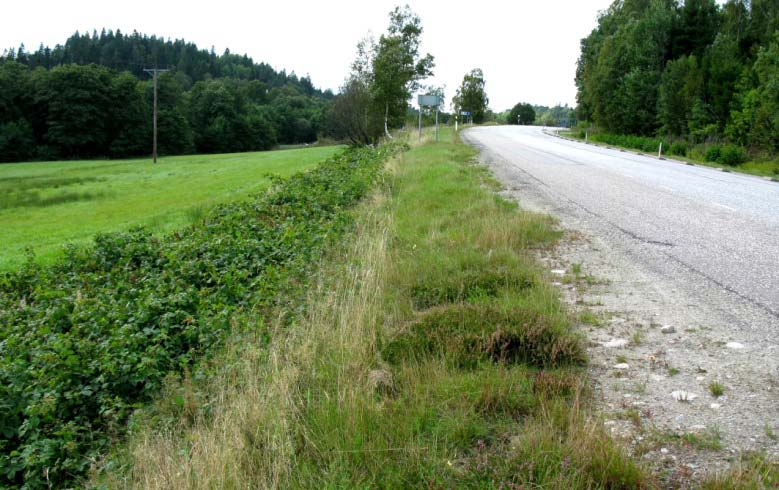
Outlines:
<svg viewBox="0 0 779 490"><path fill-rule="evenodd" d="M315 141L333 95L308 77L247 56L117 31L75 34L54 49L0 57L0 162L149 152L158 79L162 154L269 149Z"/></svg>

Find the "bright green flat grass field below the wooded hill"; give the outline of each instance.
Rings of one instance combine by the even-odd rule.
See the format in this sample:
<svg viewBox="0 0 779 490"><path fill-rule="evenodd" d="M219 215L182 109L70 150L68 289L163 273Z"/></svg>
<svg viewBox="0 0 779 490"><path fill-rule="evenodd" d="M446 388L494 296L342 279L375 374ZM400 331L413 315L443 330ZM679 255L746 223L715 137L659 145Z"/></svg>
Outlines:
<svg viewBox="0 0 779 490"><path fill-rule="evenodd" d="M268 187L268 174L288 176L340 147L188 155L148 159L0 165L0 271L25 260L31 247L50 261L66 243L143 225L170 231L215 204Z"/></svg>

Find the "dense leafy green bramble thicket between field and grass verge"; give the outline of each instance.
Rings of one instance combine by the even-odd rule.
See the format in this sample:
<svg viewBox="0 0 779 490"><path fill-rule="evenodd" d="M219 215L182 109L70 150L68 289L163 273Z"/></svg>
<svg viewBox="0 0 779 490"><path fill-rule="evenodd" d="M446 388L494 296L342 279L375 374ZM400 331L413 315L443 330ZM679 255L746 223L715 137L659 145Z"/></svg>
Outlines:
<svg viewBox="0 0 779 490"><path fill-rule="evenodd" d="M102 234L0 275L0 487L77 482L166 376L285 301L395 151L349 150L165 237Z"/></svg>

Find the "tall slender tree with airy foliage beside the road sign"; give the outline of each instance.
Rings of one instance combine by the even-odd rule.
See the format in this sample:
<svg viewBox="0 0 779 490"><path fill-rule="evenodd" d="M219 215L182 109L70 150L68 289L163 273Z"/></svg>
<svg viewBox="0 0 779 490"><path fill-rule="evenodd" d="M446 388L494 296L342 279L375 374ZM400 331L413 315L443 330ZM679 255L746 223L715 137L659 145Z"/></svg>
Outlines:
<svg viewBox="0 0 779 490"><path fill-rule="evenodd" d="M411 93L433 74L433 57L421 56L422 22L408 5L390 12L387 34L382 34L372 60L372 111L383 114L384 134L403 123ZM376 133L375 128L372 133Z"/></svg>

